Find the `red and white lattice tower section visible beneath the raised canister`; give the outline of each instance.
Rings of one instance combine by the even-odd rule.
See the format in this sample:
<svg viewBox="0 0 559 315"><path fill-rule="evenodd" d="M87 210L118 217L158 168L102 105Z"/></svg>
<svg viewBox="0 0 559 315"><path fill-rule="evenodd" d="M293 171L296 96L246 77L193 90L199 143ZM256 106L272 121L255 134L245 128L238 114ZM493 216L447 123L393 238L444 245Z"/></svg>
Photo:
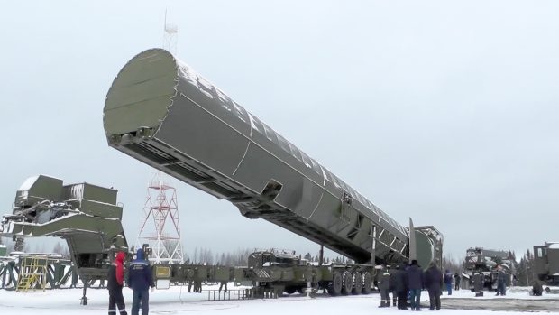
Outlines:
<svg viewBox="0 0 559 315"><path fill-rule="evenodd" d="M177 191L158 171L148 187L137 246L149 244L152 263L183 263Z"/></svg>

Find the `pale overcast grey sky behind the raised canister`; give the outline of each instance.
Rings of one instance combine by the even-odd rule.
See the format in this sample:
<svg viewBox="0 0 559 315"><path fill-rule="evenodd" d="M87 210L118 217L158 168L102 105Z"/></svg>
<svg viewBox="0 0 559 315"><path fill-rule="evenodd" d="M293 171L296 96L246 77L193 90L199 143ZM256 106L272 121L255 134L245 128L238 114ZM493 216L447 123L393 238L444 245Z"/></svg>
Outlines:
<svg viewBox="0 0 559 315"><path fill-rule="evenodd" d="M8 2L0 205L45 173L114 186L134 240L153 171L107 146L105 95L161 47L444 251L559 240L559 2ZM318 246L180 181L184 246Z"/></svg>

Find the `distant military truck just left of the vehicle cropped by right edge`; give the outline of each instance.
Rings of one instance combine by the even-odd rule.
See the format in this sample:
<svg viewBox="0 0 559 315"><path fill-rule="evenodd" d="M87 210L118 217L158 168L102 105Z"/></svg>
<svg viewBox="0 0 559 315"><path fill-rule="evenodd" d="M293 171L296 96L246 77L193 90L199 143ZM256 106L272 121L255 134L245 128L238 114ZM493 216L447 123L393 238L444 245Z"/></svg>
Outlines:
<svg viewBox="0 0 559 315"><path fill-rule="evenodd" d="M510 286L512 275L515 274L512 256L509 251L497 251L471 247L466 250L463 263L463 276L469 279L469 286L473 292L473 274L483 274L483 288L486 290L497 289L497 265L503 267L503 272L508 274L507 285Z"/></svg>

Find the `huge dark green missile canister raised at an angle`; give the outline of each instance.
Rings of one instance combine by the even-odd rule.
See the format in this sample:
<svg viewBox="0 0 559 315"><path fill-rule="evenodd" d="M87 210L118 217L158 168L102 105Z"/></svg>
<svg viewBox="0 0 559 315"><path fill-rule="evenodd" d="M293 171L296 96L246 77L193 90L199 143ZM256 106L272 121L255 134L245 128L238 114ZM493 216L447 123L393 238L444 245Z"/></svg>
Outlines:
<svg viewBox="0 0 559 315"><path fill-rule="evenodd" d="M366 286L374 264L441 264L435 227L401 226L169 51L126 63L103 121L116 150L362 264L346 284Z"/></svg>

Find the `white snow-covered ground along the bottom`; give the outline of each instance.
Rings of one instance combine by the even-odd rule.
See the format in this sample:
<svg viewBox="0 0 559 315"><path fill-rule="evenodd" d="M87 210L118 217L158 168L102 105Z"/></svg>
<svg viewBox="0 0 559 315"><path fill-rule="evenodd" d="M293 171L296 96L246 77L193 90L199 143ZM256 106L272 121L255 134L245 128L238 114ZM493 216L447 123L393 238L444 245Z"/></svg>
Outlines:
<svg viewBox="0 0 559 315"><path fill-rule="evenodd" d="M215 286L205 286L202 293L188 293L186 287L171 287L170 290L158 290L151 293L151 314L370 314L379 315L401 314L405 310L396 308L379 309L380 296L378 293L370 295L329 297L318 295L311 299L299 294L292 294L280 299L247 300L247 301L207 301L207 290L217 289ZM235 289L230 283L229 289ZM87 305L79 305L81 289L60 289L44 292L14 292L0 290L0 314L14 315L65 315L65 314L105 314L107 310L108 293L105 289L88 289ZM521 311L512 308L512 311L491 311L483 307L485 305L510 304L522 302L527 305L545 303L551 306L547 312L559 313L559 294L544 294L542 297L532 297L527 293L527 288L513 288L507 292L505 297L496 297L492 292L485 292L482 298L473 298L469 291L453 292L452 296L443 296L443 310L434 312L436 315L499 315L515 314ZM132 291L124 288L124 299L126 308L130 313ZM426 292L422 293L422 304L428 305ZM481 310L462 310L461 305L471 308L477 305ZM450 310L447 307L453 307ZM556 309L555 309L555 306ZM510 308L509 308L510 309ZM409 310L407 310L409 311ZM525 311L537 311L526 309Z"/></svg>

